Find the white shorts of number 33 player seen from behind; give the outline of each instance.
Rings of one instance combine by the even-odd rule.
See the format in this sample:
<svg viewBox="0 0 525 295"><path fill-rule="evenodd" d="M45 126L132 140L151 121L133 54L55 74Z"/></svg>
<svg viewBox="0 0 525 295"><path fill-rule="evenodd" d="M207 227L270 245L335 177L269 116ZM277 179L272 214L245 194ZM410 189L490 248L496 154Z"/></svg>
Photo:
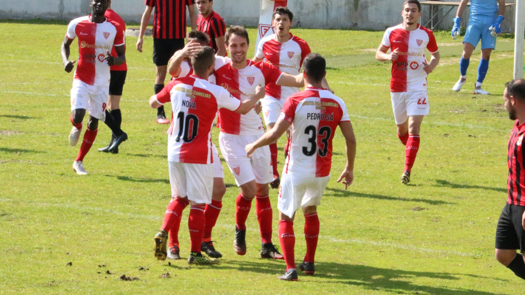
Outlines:
<svg viewBox="0 0 525 295"><path fill-rule="evenodd" d="M282 171L277 208L288 217L300 207L319 206L330 175L324 177L293 175Z"/></svg>

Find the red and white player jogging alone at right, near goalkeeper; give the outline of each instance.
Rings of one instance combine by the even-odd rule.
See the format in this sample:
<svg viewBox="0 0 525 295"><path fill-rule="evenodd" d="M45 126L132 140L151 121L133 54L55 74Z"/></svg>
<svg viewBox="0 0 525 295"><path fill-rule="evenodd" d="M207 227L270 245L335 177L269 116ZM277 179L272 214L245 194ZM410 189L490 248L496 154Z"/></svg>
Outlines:
<svg viewBox="0 0 525 295"><path fill-rule="evenodd" d="M439 51L432 31L417 23L421 17L421 4L417 0L405 1L402 16L401 25L386 29L375 58L392 61L390 92L397 136L405 145L401 182L407 184L419 150L421 122L429 110L427 76L439 62ZM432 55L430 62L426 60L425 48Z"/></svg>

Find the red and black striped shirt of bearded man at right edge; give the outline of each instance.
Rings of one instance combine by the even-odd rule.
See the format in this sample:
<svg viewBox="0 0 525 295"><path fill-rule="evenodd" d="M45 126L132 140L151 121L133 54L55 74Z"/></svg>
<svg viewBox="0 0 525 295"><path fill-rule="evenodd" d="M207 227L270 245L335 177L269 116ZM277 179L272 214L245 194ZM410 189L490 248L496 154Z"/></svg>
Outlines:
<svg viewBox="0 0 525 295"><path fill-rule="evenodd" d="M525 123L518 125L516 120L514 128L509 138L507 165L509 167L509 178L507 188L509 196L507 203L518 206L525 206L525 158L523 150L523 135L525 133Z"/></svg>

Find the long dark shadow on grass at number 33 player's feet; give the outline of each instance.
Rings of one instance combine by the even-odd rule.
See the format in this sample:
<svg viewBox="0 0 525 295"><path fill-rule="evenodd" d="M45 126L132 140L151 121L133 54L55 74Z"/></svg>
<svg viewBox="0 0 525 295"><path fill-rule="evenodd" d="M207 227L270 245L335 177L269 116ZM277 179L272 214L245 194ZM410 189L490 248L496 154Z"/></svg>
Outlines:
<svg viewBox="0 0 525 295"><path fill-rule="evenodd" d="M255 273L265 273L267 275L277 276L281 275L284 270L282 261L265 261L265 264L249 261L233 261L222 260L214 268L224 270L238 270L250 271ZM336 262L316 262L316 274L312 277L306 276L304 272L299 271L299 281L308 278L313 280L311 283L332 283L332 284L346 284L359 286L363 289L371 291L383 291L392 293L407 293L407 294L456 294L456 295L496 295L501 293L490 293L476 290L468 290L461 288L447 288L444 286L431 287L425 285L417 285L413 282L414 279L428 278L439 279L447 281L459 281L462 277L477 278L480 280L493 279L484 276L477 276L464 273L448 273L448 272L430 272L430 271L405 271L398 269L377 268L362 265L341 264ZM445 285L443 282L442 285Z"/></svg>

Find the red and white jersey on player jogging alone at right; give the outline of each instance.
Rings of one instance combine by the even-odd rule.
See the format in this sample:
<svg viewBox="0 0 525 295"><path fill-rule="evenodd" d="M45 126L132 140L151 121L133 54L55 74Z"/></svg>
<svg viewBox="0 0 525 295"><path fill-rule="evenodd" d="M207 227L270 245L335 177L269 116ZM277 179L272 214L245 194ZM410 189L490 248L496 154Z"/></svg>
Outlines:
<svg viewBox="0 0 525 295"><path fill-rule="evenodd" d="M431 30L417 25L417 29L407 31L403 24L386 29L381 45L394 51L399 49L399 57L392 61L391 92L426 91L427 64L425 48L437 52L437 43Z"/></svg>

